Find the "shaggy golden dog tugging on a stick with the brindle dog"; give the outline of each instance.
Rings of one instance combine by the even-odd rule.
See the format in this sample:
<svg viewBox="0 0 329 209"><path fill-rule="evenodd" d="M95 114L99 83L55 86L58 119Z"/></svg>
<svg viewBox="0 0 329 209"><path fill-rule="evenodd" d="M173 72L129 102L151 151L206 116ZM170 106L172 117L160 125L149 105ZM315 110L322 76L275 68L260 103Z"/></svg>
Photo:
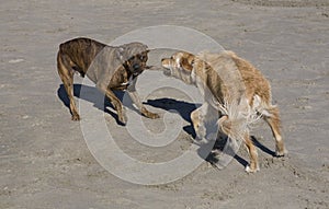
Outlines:
<svg viewBox="0 0 329 209"><path fill-rule="evenodd" d="M286 153L281 136L279 108L271 103L271 86L262 73L232 51L203 53L198 56L179 51L161 60L163 73L194 84L205 103L191 113L198 138L206 133L204 123L218 116L217 124L227 136L242 139L250 154L246 172L259 170L257 149L250 139L249 125L263 118L275 138L275 155Z"/></svg>

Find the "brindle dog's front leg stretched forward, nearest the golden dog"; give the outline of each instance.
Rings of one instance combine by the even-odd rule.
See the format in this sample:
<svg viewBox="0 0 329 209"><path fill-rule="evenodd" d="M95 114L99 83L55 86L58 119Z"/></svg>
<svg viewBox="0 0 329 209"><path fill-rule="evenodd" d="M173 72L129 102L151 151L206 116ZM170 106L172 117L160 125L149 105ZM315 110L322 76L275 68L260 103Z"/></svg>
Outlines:
<svg viewBox="0 0 329 209"><path fill-rule="evenodd" d="M148 118L151 118L151 119L159 118L160 116L158 114L147 111L147 108L140 102L139 95L138 95L138 93L135 89L136 81L137 81L137 78L135 78L132 81L132 83L129 84L129 86L127 88L127 92L128 92L133 103L137 106L137 108L141 113L141 115L144 115L145 117L148 117Z"/></svg>

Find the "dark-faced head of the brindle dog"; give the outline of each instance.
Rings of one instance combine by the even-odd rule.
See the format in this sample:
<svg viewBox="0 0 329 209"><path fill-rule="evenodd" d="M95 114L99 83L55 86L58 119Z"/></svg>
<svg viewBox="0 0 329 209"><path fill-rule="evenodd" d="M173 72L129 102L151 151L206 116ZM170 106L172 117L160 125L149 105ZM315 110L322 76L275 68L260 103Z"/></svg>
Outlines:
<svg viewBox="0 0 329 209"><path fill-rule="evenodd" d="M120 47L120 59L123 61L125 69L131 72L133 77L137 77L147 68L147 54L149 53L147 48L148 47L141 43L131 43Z"/></svg>

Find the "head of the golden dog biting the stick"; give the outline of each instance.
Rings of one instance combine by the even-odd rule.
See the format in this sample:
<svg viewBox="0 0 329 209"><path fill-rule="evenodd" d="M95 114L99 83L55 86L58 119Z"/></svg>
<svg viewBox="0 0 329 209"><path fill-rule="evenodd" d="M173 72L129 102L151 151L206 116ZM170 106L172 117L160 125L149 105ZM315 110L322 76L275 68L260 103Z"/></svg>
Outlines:
<svg viewBox="0 0 329 209"><path fill-rule="evenodd" d="M161 60L161 65L164 68L163 73L191 84L194 59L194 55L185 51L179 51L173 54L170 58L163 58Z"/></svg>

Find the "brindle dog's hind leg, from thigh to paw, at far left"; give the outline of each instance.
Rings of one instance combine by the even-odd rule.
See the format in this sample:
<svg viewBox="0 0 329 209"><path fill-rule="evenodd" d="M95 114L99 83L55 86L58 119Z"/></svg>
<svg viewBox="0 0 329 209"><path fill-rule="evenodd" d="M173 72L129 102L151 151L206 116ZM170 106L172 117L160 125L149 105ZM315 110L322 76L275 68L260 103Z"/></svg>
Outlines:
<svg viewBox="0 0 329 209"><path fill-rule="evenodd" d="M65 58L65 55L60 55L59 53L57 56L57 70L70 101L70 112L72 114L71 119L80 120L80 116L78 114L78 109L73 98L73 70L69 65L69 60Z"/></svg>

